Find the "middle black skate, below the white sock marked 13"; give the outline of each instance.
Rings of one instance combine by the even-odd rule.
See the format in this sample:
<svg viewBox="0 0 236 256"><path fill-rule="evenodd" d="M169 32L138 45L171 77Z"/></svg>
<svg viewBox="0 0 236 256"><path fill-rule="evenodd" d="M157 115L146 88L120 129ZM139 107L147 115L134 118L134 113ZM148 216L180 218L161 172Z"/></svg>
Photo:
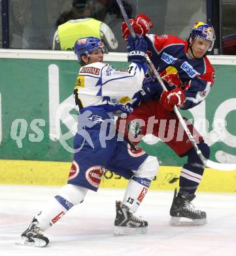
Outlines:
<svg viewBox="0 0 236 256"><path fill-rule="evenodd" d="M116 201L116 219L114 221L114 235L122 236L126 234L145 234L148 223L137 218L129 211L129 207L121 205Z"/></svg>

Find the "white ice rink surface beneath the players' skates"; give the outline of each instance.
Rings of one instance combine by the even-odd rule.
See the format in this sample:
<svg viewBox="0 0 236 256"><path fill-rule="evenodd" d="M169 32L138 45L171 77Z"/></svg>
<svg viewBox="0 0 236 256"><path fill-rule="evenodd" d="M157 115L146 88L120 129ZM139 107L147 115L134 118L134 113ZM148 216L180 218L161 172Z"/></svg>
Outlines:
<svg viewBox="0 0 236 256"><path fill-rule="evenodd" d="M197 193L196 209L207 211L205 226L170 226L173 192L150 190L137 215L148 221L148 233L113 236L115 200L124 190L89 192L58 223L45 232L47 247L16 245L44 202L58 187L0 185L0 255L236 255L236 195Z"/></svg>

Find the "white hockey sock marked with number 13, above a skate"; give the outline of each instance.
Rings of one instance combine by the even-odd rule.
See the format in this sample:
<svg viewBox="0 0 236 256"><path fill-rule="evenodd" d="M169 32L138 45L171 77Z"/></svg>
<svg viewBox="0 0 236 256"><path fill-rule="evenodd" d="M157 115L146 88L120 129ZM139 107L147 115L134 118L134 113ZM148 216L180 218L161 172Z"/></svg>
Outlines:
<svg viewBox="0 0 236 256"><path fill-rule="evenodd" d="M127 205L135 213L148 192L148 187L139 184L133 179L129 180L122 204Z"/></svg>

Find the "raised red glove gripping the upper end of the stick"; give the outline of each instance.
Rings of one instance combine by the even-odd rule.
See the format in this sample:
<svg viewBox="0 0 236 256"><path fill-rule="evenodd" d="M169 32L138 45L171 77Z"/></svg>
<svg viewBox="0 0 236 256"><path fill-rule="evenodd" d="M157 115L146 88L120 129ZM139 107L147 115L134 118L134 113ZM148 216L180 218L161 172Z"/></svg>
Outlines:
<svg viewBox="0 0 236 256"><path fill-rule="evenodd" d="M148 33L149 30L153 27L152 20L144 14L137 15L135 19L131 18L129 22L131 23L133 31L139 35L146 35L146 33ZM127 41L130 32L126 22L122 23L121 30L124 40Z"/></svg>

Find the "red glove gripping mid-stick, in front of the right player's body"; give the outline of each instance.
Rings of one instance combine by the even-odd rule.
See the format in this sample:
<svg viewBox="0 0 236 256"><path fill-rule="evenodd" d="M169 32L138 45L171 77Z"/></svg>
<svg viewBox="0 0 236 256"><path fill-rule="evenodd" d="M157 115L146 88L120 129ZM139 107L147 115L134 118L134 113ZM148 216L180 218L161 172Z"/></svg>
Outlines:
<svg viewBox="0 0 236 256"><path fill-rule="evenodd" d="M172 91L161 93L160 104L167 110L173 110L173 106L180 108L186 100L186 96L181 89L175 88Z"/></svg>

